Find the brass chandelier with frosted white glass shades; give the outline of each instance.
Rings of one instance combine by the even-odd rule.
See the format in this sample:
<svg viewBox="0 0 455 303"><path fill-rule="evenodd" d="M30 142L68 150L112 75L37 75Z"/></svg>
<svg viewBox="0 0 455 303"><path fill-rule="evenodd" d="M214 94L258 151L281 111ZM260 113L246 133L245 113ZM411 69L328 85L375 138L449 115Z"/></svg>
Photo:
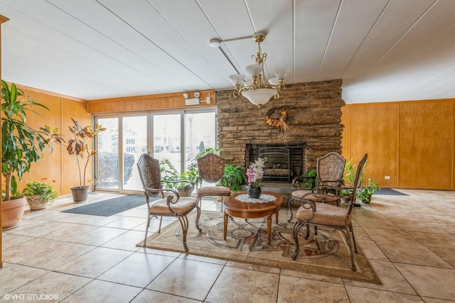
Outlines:
<svg viewBox="0 0 455 303"><path fill-rule="evenodd" d="M265 39L264 33L255 33L253 39L257 43L257 54L252 55L252 59L256 64L245 67L251 80L245 81L245 75L235 74L230 75L229 79L234 84L234 97L243 97L250 100L252 104L261 107L266 104L270 98L279 98L279 92L284 92L284 78L286 78L290 69L287 67L277 67L273 70L274 78L267 80L264 73L264 62L267 58L267 53L262 53L261 42Z"/></svg>

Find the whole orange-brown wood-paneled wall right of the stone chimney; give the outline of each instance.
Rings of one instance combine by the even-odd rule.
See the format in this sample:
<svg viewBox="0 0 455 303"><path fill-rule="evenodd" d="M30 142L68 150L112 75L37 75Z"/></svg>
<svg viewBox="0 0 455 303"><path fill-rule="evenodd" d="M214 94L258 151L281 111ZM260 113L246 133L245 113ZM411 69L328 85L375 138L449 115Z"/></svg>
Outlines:
<svg viewBox="0 0 455 303"><path fill-rule="evenodd" d="M343 157L357 163L368 153L366 177L383 187L455 189L454 102L346 105Z"/></svg>

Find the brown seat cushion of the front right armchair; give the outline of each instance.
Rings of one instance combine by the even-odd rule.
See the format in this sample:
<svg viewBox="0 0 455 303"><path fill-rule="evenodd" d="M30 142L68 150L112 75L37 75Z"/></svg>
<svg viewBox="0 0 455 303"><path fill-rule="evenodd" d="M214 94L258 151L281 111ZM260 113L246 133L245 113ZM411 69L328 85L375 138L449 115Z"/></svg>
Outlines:
<svg viewBox="0 0 455 303"><path fill-rule="evenodd" d="M312 209L304 209L300 206L299 209L297 209L296 219L304 222L308 221L309 223L314 222L329 226L346 226L347 209L345 207L325 203L316 203L314 217L309 220L312 215ZM350 223L351 218L352 214L348 216L348 224Z"/></svg>

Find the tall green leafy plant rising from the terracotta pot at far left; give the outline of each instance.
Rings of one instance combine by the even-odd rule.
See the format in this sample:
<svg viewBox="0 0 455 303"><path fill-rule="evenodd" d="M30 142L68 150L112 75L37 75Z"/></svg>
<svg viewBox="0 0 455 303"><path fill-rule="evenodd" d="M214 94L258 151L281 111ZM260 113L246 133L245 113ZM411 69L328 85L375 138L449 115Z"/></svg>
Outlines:
<svg viewBox="0 0 455 303"><path fill-rule="evenodd" d="M22 97L19 98L18 97ZM38 162L46 147L52 153L50 142L63 143L58 128L50 131L49 126L38 130L27 125L27 114L38 114L35 109L49 110L26 96L12 83L11 88L1 80L1 174L5 178L4 200L10 200L18 194L17 180L22 180L31 163Z"/></svg>

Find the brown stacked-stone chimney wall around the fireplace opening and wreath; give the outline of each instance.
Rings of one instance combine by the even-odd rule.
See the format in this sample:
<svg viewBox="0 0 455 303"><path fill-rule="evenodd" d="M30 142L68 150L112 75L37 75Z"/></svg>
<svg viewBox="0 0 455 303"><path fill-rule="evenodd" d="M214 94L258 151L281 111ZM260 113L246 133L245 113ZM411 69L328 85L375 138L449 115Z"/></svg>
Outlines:
<svg viewBox="0 0 455 303"><path fill-rule="evenodd" d="M232 165L246 165L246 145L304 143L306 170L316 167L316 159L331 151L341 154L341 79L291 84L277 100L262 108L245 97L233 97L233 90L216 92L218 106L218 146L221 156ZM284 107L290 131L264 122L267 111ZM275 114L275 119L279 116ZM305 170L305 171L306 171Z"/></svg>

